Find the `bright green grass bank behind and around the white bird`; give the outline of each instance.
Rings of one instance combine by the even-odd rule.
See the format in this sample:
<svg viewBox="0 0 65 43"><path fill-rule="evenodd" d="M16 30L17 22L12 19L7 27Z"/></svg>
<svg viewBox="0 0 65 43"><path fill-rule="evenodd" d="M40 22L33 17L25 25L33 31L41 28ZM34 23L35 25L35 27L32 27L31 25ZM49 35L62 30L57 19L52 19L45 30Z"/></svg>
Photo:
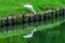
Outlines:
<svg viewBox="0 0 65 43"><path fill-rule="evenodd" d="M0 17L9 15L21 15L31 13L25 9L24 4L31 4L37 13L49 9L62 8L65 5L64 0L0 0Z"/></svg>

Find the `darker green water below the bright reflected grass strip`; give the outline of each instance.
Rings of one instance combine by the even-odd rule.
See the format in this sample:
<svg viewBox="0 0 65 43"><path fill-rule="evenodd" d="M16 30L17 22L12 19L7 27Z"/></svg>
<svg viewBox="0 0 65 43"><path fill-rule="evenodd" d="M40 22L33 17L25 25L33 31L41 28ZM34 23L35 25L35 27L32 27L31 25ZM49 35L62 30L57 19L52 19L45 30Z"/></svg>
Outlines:
<svg viewBox="0 0 65 43"><path fill-rule="evenodd" d="M0 39L0 43L65 43L65 23L54 28L36 31L30 39L14 35Z"/></svg>

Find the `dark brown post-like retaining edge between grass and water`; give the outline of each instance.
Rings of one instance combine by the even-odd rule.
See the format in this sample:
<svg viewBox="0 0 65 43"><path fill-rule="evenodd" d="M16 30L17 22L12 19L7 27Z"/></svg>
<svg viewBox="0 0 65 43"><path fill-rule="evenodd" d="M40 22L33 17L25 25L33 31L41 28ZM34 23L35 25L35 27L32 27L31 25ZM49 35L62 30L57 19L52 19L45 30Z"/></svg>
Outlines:
<svg viewBox="0 0 65 43"><path fill-rule="evenodd" d="M26 24L26 23L32 23L32 22L39 22L39 20L53 20L53 19L65 19L65 9L60 10L51 10L47 11L44 13L38 13L38 14L26 14L26 15L18 15L17 16L9 16L9 17L0 17L0 26L11 26L11 25L17 25L17 24Z"/></svg>

